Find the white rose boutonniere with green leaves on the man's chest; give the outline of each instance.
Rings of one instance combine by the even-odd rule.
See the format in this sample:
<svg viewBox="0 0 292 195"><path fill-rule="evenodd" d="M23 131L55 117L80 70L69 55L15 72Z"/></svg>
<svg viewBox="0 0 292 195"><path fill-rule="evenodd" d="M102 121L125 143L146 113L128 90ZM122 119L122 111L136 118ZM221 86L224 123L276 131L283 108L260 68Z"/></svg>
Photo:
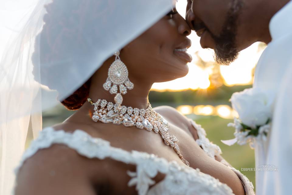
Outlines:
<svg viewBox="0 0 292 195"><path fill-rule="evenodd" d="M274 95L259 88L250 88L234 93L230 101L239 115L228 124L235 128L235 139L221 141L229 146L236 142L239 145L249 143L253 148L255 140L266 140L271 129Z"/></svg>

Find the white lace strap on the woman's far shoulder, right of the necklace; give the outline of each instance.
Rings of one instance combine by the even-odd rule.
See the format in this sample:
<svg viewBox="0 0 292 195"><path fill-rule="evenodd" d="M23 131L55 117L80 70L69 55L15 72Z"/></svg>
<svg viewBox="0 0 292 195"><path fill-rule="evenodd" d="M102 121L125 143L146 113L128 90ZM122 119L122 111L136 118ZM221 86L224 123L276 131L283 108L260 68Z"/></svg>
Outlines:
<svg viewBox="0 0 292 195"><path fill-rule="evenodd" d="M202 128L201 125L198 125L195 121L190 119L193 127L197 130L199 139L196 140L196 143L203 148L208 156L215 159L216 155L222 154L222 151L219 146L210 142L206 137L206 131Z"/></svg>

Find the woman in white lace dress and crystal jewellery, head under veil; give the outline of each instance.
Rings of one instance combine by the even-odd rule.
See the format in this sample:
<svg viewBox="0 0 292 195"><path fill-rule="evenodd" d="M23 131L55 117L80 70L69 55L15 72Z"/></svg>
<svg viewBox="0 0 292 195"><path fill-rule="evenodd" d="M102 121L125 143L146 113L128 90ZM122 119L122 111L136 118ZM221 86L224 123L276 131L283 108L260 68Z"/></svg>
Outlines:
<svg viewBox="0 0 292 195"><path fill-rule="evenodd" d="M77 111L32 142L16 168L13 193L254 194L252 183L220 156L200 125L148 101L153 83L188 73L191 30L185 19L171 1L136 1L133 7L105 2L54 0L45 6L32 73ZM125 15L137 21L116 26ZM99 20L107 26L96 25ZM131 37L120 34L122 27ZM123 36L124 42L115 42ZM79 88L68 94L64 80Z"/></svg>

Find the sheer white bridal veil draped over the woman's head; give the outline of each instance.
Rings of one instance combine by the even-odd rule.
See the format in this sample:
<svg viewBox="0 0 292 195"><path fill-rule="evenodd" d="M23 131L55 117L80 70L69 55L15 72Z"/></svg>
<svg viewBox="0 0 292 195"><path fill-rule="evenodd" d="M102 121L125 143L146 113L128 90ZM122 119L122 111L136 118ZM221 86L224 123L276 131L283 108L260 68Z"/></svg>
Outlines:
<svg viewBox="0 0 292 195"><path fill-rule="evenodd" d="M0 2L0 25L13 32L0 56L0 194L11 193L13 169L24 151L28 128L37 137L42 128L41 112L72 94L116 50L151 27L175 2ZM48 4L51 6L46 9ZM15 21L15 14L20 21ZM50 56L45 55L46 50Z"/></svg>

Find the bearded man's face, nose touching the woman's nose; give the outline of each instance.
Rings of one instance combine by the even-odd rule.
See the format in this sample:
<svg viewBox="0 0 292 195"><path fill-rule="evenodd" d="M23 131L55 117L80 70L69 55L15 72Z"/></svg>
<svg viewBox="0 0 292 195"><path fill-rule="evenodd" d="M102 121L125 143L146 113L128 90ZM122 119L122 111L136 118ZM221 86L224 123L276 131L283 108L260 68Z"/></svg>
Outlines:
<svg viewBox="0 0 292 195"><path fill-rule="evenodd" d="M201 37L202 48L214 49L219 64L229 65L238 57L238 16L243 0L187 0L186 21Z"/></svg>

